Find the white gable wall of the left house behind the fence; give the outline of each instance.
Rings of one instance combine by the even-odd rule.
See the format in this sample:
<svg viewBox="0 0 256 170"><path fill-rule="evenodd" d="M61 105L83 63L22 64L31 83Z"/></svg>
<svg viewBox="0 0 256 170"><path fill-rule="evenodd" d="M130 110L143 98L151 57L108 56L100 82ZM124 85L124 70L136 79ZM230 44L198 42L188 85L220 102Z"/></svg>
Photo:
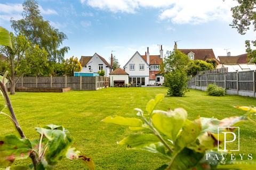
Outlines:
<svg viewBox="0 0 256 170"><path fill-rule="evenodd" d="M95 53L91 60L85 66L82 67L81 72L89 73L89 66L91 66L91 72L97 73L99 71L99 64L103 64L103 70L105 71L105 76L108 77L110 73L110 68L106 67L107 65L100 59L100 57Z"/></svg>

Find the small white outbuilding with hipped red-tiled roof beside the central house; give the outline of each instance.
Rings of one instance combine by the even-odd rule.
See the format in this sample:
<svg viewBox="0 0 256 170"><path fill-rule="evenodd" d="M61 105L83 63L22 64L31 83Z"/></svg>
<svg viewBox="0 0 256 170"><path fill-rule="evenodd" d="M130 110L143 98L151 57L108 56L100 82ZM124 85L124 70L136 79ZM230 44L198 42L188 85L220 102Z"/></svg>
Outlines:
<svg viewBox="0 0 256 170"><path fill-rule="evenodd" d="M125 87L129 83L129 74L123 69L117 68L109 73L110 87Z"/></svg>

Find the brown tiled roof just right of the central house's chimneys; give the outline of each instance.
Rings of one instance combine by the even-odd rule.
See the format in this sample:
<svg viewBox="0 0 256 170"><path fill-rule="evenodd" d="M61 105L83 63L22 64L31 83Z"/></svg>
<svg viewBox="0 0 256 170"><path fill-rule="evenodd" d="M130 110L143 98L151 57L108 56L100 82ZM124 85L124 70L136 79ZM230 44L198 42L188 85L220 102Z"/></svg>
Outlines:
<svg viewBox="0 0 256 170"><path fill-rule="evenodd" d="M195 55L194 60L203 60L206 61L207 59L216 59L212 49L178 49L180 52L184 54L188 54L193 52Z"/></svg>

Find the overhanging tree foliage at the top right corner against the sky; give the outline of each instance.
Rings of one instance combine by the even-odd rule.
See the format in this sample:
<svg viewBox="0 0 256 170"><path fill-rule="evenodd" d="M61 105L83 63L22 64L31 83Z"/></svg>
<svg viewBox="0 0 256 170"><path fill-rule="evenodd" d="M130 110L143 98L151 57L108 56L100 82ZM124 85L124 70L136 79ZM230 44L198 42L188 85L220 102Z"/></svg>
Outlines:
<svg viewBox="0 0 256 170"><path fill-rule="evenodd" d="M232 28L237 29L238 33L245 35L251 25L253 31L256 31L256 1L242 1L236 0L238 5L231 8L233 13L233 22L230 24ZM256 50L251 46L256 47L256 40L246 40L245 47L248 53L248 59L250 63L256 63Z"/></svg>

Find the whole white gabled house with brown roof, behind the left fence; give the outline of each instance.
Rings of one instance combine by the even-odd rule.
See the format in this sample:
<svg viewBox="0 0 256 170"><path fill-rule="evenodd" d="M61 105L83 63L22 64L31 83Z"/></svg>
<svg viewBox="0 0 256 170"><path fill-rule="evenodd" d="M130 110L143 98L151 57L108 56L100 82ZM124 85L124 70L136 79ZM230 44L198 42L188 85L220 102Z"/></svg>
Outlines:
<svg viewBox="0 0 256 170"><path fill-rule="evenodd" d="M81 73L98 73L100 70L105 71L105 77L109 77L111 65L99 54L93 56L81 56L80 63L82 65Z"/></svg>

